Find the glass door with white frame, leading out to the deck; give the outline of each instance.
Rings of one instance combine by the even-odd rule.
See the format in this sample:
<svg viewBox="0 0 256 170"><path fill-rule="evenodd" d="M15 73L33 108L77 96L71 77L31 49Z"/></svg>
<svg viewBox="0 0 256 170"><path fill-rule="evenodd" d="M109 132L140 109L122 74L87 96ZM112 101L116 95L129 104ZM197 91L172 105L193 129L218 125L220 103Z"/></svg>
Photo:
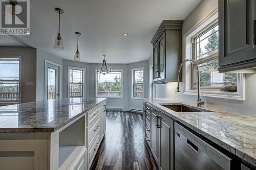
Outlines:
<svg viewBox="0 0 256 170"><path fill-rule="evenodd" d="M45 100L59 98L59 66L45 65Z"/></svg>

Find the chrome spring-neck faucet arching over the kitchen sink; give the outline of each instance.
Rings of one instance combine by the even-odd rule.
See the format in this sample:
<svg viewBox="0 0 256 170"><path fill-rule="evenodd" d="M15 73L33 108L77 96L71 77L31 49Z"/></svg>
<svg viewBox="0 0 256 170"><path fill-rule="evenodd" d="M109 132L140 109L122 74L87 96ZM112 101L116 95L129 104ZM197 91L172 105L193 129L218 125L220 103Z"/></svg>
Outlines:
<svg viewBox="0 0 256 170"><path fill-rule="evenodd" d="M180 71L181 71L181 68L184 65L184 63L187 62L187 61L193 62L196 65L196 68L197 68L197 93L198 93L197 106L202 107L202 105L204 105L204 102L201 101L201 97L200 97L200 75L199 75L198 62L196 60L186 59L182 63L180 63L180 66L179 66L179 69L178 69L178 87L177 87L177 91L181 92L180 83L179 83Z"/></svg>

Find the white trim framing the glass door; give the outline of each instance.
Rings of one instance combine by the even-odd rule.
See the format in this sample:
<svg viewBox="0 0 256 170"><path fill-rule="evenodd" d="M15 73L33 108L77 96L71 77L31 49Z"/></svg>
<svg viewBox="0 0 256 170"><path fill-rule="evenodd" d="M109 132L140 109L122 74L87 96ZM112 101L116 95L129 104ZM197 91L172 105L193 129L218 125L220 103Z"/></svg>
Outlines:
<svg viewBox="0 0 256 170"><path fill-rule="evenodd" d="M45 73L46 70L47 70L47 63L59 67L59 98L62 98L62 65L57 64L57 63L55 63L55 62L52 62L52 61L49 61L49 60L46 60L46 59L45 59L45 71L44 71L44 79L45 79L45 82L44 82L44 100L47 100L46 93L45 93L45 92L47 91L47 76L46 76L46 73Z"/></svg>

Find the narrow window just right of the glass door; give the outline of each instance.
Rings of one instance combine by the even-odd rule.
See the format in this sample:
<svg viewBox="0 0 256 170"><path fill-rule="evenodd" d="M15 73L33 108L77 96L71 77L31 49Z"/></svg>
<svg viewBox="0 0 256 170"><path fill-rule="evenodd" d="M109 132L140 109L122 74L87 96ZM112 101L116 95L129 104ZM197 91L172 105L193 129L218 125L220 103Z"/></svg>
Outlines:
<svg viewBox="0 0 256 170"><path fill-rule="evenodd" d="M84 69L69 67L69 96L83 97L84 96Z"/></svg>

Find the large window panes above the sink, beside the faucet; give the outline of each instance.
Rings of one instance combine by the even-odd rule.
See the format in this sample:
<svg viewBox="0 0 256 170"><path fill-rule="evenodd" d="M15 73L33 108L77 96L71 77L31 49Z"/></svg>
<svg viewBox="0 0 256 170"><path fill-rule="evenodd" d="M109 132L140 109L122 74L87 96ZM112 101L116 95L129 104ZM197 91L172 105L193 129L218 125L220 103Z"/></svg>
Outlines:
<svg viewBox="0 0 256 170"><path fill-rule="evenodd" d="M220 73L219 67L219 26L212 22L192 38L193 58L199 63L200 87L219 90L231 83L237 84L237 74ZM197 87L197 71L193 64L192 88Z"/></svg>

